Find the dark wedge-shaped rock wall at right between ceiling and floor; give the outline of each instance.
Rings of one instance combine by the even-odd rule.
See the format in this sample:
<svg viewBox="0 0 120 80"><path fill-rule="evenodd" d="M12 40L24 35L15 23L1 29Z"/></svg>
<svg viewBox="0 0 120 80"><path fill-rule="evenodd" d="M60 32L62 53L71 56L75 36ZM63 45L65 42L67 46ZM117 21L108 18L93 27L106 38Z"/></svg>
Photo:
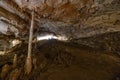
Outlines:
<svg viewBox="0 0 120 80"><path fill-rule="evenodd" d="M120 32L104 33L87 38L76 39L73 40L73 42L120 55L119 35Z"/></svg>

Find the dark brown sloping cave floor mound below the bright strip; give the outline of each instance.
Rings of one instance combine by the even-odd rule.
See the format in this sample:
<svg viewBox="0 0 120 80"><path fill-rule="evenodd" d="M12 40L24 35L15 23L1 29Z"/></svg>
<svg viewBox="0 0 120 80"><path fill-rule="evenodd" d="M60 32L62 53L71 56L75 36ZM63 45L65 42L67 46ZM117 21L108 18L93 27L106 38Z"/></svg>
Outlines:
<svg viewBox="0 0 120 80"><path fill-rule="evenodd" d="M120 58L111 52L57 40L37 42L29 75L24 70L26 53L23 43L0 56L0 80L119 80Z"/></svg>

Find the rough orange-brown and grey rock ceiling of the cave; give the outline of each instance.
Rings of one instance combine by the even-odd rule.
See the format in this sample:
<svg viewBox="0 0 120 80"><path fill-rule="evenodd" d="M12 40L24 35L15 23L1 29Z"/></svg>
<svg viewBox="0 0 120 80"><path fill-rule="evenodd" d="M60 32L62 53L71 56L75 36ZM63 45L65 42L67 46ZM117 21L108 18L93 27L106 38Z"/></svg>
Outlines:
<svg viewBox="0 0 120 80"><path fill-rule="evenodd" d="M120 0L0 0L0 34L28 38L32 11L34 36L81 38L120 31Z"/></svg>

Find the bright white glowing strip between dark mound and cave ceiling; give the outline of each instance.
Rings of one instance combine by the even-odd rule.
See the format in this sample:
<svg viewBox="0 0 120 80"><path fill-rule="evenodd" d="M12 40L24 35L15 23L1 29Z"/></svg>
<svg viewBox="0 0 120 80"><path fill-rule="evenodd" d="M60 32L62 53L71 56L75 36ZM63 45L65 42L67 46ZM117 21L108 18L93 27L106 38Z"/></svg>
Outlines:
<svg viewBox="0 0 120 80"><path fill-rule="evenodd" d="M54 35L45 35L45 36L39 36L37 37L37 40L49 40L49 39L57 39L61 41L68 40L65 36L54 36Z"/></svg>

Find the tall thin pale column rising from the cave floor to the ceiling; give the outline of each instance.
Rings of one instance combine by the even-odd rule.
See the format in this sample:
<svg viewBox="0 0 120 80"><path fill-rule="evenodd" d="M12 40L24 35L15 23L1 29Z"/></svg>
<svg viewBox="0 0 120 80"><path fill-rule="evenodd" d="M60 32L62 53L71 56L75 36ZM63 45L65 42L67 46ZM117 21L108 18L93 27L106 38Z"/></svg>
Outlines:
<svg viewBox="0 0 120 80"><path fill-rule="evenodd" d="M27 55L27 59L26 59L26 63L25 63L25 73L26 74L29 74L32 70L31 52L32 52L33 25L34 25L34 11L32 11L32 20L31 20L29 44L28 44L28 55Z"/></svg>

